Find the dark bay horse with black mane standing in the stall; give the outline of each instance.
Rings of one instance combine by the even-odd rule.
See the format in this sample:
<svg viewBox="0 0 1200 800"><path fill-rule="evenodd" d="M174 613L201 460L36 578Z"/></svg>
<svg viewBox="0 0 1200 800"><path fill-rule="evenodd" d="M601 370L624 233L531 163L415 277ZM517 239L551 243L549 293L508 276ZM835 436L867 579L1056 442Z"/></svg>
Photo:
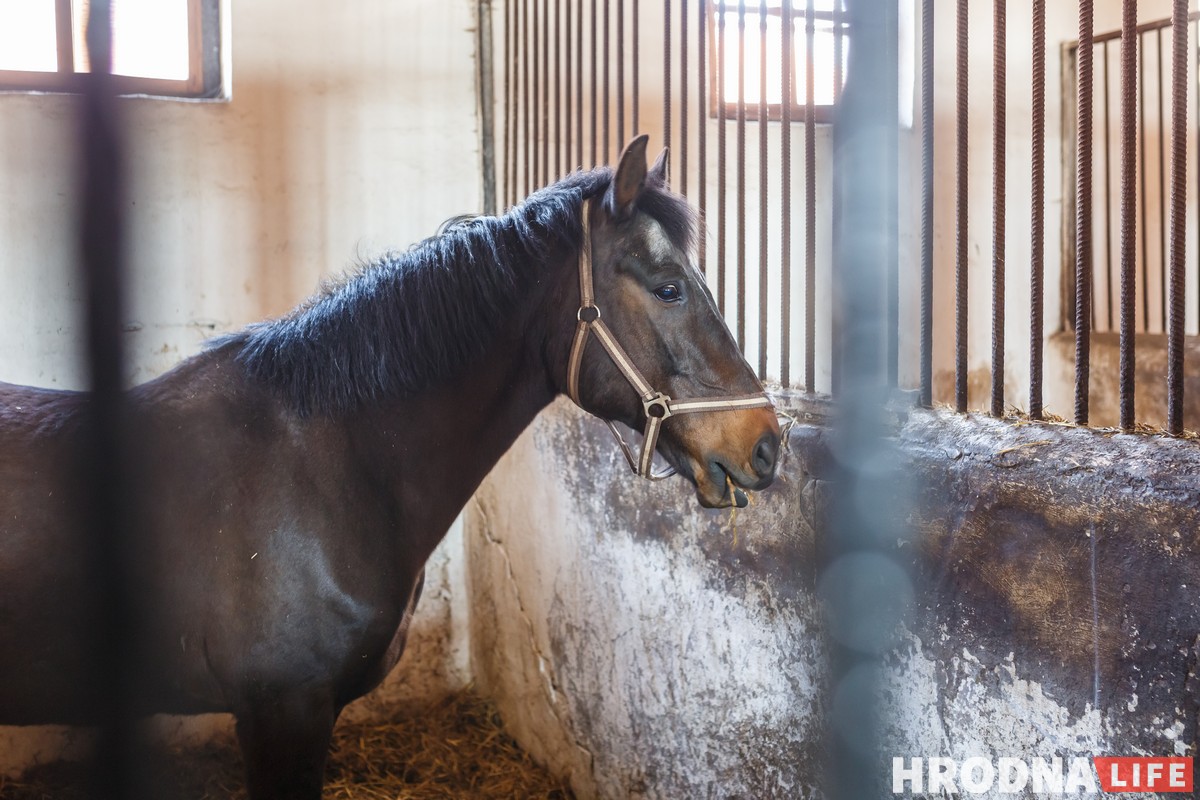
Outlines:
<svg viewBox="0 0 1200 800"><path fill-rule="evenodd" d="M130 390L136 710L232 711L254 800L319 798L338 712L396 664L426 558L568 391L582 325L602 314L664 396L761 397L692 265L696 236L665 152L647 169L640 137L616 170L456 224ZM665 415L598 337L577 402L635 428L654 416L702 505L773 480L766 401ZM95 721L90 528L66 477L86 402L0 384L0 724Z"/></svg>

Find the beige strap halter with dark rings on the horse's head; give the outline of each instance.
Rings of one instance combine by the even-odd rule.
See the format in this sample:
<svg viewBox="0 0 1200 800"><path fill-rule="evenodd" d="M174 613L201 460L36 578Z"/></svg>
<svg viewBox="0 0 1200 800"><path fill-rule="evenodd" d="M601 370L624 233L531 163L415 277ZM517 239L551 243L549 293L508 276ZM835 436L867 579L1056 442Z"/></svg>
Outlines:
<svg viewBox="0 0 1200 800"><path fill-rule="evenodd" d="M612 435L616 437L620 451L625 453L625 461L630 469L637 475L652 481L660 481L676 474L673 467L668 467L665 473L655 473L653 469L654 447L658 445L659 432L662 422L677 414L696 414L700 411L732 411L746 408L769 408L770 401L763 393L734 395L730 397L704 397L698 399L678 401L656 391L646 380L641 371L634 366L629 354L617 343L608 326L600 319L600 307L595 303L595 293L592 285L592 201L583 201L583 245L580 248L580 309L575 318L578 320L575 327L575 341L571 342L571 357L566 367L566 392L575 404L580 403L580 367L583 362L583 349L588 343L588 335L595 332L596 339L608 353L608 357L617 365L625 380L630 383L634 391L642 399L642 410L646 413L646 431L642 434L642 452L634 457L634 451L620 435L612 420L605 420Z"/></svg>

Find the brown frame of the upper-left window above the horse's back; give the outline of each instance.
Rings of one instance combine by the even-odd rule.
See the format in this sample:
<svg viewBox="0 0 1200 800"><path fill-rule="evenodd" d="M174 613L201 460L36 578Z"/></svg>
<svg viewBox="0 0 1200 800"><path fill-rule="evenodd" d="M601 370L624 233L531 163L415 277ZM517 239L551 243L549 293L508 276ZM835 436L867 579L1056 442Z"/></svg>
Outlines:
<svg viewBox="0 0 1200 800"><path fill-rule="evenodd" d="M224 36L223 22L228 13L227 0L187 0L187 65L186 80L112 76L120 95L172 97L185 100L224 100ZM58 70L35 72L0 70L0 92L78 94L83 91L86 72L74 68L74 11L72 0L54 0ZM205 58L205 53L210 58Z"/></svg>

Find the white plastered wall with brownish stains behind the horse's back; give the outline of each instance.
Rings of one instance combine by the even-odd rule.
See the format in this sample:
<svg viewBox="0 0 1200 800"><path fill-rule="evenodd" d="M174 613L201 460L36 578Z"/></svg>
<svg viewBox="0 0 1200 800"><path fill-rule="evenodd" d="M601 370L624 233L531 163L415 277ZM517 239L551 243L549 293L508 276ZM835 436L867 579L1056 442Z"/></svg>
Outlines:
<svg viewBox="0 0 1200 800"><path fill-rule="evenodd" d="M130 383L482 207L474 2L258 0L234 4L230 29L232 100L120 103ZM84 381L76 125L71 97L0 95L0 380ZM372 708L466 682L460 541L434 554L409 652ZM0 728L0 774L73 740Z"/></svg>

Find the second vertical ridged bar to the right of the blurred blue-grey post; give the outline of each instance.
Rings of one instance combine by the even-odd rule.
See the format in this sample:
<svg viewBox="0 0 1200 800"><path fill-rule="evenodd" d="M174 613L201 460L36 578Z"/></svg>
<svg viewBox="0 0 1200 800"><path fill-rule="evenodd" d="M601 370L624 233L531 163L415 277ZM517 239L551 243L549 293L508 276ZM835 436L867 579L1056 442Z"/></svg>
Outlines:
<svg viewBox="0 0 1200 800"><path fill-rule="evenodd" d="M959 0L955 29L955 254L954 254L954 407L967 410L967 102L968 0Z"/></svg>

